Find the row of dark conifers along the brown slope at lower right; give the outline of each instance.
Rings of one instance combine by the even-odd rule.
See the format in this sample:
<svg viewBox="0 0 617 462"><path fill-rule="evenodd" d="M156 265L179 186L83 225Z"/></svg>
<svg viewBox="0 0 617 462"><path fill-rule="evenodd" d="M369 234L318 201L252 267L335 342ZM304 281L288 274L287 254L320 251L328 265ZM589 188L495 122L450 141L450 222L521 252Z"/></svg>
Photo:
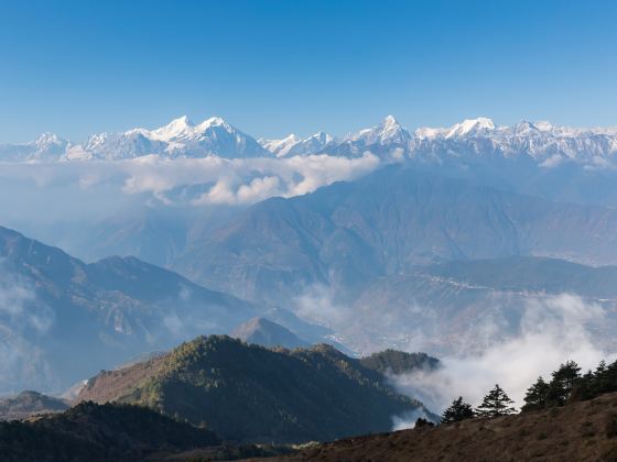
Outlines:
<svg viewBox="0 0 617 462"><path fill-rule="evenodd" d="M589 370L584 374L581 374L578 364L567 361L551 374L549 382L540 376L527 389L521 413L561 407L611 392L617 392L617 361L610 364L600 361L594 371ZM517 413L512 404L507 393L497 384L476 408L466 403L462 396L454 399L444 410L441 422L452 424L476 417L508 416Z"/></svg>

